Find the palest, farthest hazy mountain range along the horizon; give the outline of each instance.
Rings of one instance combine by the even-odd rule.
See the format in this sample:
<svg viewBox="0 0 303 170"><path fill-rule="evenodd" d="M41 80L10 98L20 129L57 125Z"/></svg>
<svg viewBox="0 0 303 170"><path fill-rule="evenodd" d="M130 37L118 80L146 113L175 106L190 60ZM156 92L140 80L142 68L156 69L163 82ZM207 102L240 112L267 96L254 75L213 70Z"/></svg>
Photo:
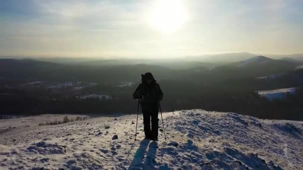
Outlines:
<svg viewBox="0 0 303 170"><path fill-rule="evenodd" d="M109 66L109 65L135 65L135 64L165 64L165 63L216 63L218 64L227 64L240 62L248 60L257 54L241 52L241 53L222 53L222 54L209 54L209 55L196 55L196 56L185 56L175 59L155 59L155 58L146 58L142 57L137 59L123 58L123 57L113 57L112 59L102 59L102 58L88 58L88 57L21 57L21 56L0 56L0 58L9 58L9 59L33 59L45 62L54 62L60 64L72 64L72 65L90 65L90 66ZM285 54L285 55L265 55L272 59L280 60L295 60L303 61L303 54Z"/></svg>

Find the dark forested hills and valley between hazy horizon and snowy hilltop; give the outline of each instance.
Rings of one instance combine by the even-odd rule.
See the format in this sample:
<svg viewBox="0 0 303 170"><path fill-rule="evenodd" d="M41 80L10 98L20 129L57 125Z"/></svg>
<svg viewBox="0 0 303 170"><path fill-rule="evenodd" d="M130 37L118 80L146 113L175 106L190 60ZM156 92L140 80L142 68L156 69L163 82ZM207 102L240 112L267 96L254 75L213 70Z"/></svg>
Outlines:
<svg viewBox="0 0 303 170"><path fill-rule="evenodd" d="M303 120L300 62L256 56L211 67L196 64L181 69L151 63L88 66L0 59L2 114L133 113L132 93L141 74L152 72L164 92L165 111L202 108ZM283 100L269 101L256 92L291 87L299 88Z"/></svg>

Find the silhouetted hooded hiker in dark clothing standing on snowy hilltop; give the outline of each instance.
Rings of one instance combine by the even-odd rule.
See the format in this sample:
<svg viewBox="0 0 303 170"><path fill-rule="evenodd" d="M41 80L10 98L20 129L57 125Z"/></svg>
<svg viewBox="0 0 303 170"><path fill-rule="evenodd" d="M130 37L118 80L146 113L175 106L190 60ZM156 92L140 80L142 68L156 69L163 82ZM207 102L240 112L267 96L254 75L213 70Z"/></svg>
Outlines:
<svg viewBox="0 0 303 170"><path fill-rule="evenodd" d="M160 86L154 80L152 73L142 75L142 83L133 93L135 99L139 99L143 112L145 139L158 140L158 107L163 93ZM151 128L152 120L152 128Z"/></svg>

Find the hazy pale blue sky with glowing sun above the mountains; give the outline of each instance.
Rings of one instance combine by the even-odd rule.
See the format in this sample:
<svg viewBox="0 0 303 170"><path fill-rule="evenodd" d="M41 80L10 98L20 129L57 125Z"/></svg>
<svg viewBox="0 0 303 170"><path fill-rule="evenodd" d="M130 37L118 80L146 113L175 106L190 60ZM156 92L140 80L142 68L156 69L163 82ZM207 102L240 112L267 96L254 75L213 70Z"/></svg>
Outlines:
<svg viewBox="0 0 303 170"><path fill-rule="evenodd" d="M0 0L0 55L303 53L303 0Z"/></svg>

